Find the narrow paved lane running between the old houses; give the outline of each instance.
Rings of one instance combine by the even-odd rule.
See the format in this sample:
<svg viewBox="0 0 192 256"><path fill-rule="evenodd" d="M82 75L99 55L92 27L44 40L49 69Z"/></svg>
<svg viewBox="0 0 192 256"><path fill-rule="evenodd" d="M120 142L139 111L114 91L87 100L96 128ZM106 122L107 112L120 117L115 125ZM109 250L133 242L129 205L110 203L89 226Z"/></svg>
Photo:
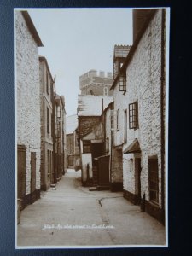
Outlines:
<svg viewBox="0 0 192 256"><path fill-rule="evenodd" d="M18 246L163 245L165 228L123 198L122 192L89 191L80 171L67 169L41 199L21 212Z"/></svg>

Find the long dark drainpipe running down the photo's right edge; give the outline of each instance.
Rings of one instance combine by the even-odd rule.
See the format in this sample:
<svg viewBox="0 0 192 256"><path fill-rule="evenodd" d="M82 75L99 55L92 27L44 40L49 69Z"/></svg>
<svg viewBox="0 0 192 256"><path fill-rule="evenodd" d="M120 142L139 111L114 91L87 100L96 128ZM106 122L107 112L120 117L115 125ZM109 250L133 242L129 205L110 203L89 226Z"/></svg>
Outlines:
<svg viewBox="0 0 192 256"><path fill-rule="evenodd" d="M162 9L162 24L161 24L161 86L160 86L160 124L161 124L161 206L162 213L165 214L165 191L164 191L164 178L165 178L165 9ZM162 215L162 221L165 223L165 215Z"/></svg>

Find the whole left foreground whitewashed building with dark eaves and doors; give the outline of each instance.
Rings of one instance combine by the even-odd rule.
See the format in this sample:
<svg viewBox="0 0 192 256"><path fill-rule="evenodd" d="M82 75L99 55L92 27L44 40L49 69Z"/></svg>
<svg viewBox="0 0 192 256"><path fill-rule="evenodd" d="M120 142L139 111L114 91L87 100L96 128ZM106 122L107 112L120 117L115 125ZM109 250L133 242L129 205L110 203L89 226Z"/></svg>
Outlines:
<svg viewBox="0 0 192 256"><path fill-rule="evenodd" d="M15 11L17 198L22 208L40 197L40 46L43 44L27 11Z"/></svg>

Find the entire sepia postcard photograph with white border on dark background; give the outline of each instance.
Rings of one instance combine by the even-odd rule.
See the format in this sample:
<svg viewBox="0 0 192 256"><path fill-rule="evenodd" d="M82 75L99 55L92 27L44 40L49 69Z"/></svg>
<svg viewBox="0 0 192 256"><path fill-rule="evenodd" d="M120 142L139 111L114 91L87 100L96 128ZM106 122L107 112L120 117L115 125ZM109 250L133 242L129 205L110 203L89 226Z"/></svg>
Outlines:
<svg viewBox="0 0 192 256"><path fill-rule="evenodd" d="M15 248L168 247L170 8L14 9Z"/></svg>

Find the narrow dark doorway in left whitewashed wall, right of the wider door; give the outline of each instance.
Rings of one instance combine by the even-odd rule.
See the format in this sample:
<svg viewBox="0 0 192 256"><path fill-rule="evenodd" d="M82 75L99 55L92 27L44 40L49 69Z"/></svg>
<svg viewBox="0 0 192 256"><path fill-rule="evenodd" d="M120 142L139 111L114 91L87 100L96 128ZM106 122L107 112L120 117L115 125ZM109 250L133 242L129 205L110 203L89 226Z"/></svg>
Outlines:
<svg viewBox="0 0 192 256"><path fill-rule="evenodd" d="M31 152L31 202L36 201L36 152Z"/></svg>

